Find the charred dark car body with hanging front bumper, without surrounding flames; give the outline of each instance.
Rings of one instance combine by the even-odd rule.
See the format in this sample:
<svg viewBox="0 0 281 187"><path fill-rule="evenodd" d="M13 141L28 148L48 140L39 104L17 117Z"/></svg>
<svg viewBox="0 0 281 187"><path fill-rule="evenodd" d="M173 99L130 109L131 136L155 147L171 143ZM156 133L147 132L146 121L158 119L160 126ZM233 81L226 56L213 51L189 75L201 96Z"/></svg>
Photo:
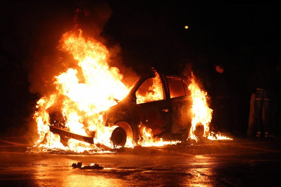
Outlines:
<svg viewBox="0 0 281 187"><path fill-rule="evenodd" d="M187 138L191 127L191 93L189 80L183 76L164 75L155 70L147 77L140 78L129 94L118 104L101 112L106 126L118 126L111 135L113 145L124 146L126 139L140 137L140 125L150 128L154 136ZM50 115L54 124L57 115ZM75 138L94 143L92 137L80 136L50 126L60 134L61 139ZM94 135L93 135L94 136Z"/></svg>

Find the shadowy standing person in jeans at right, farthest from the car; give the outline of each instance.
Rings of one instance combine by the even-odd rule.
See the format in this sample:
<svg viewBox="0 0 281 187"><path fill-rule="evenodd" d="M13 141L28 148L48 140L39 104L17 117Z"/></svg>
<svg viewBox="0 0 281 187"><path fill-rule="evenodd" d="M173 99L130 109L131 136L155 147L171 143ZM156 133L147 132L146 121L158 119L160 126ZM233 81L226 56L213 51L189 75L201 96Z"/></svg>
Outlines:
<svg viewBox="0 0 281 187"><path fill-rule="evenodd" d="M255 126L256 136L268 137L270 135L271 125L271 90L272 74L269 67L268 56L263 55L256 63L254 84L256 88L255 96ZM264 105L264 123L262 119L262 110Z"/></svg>

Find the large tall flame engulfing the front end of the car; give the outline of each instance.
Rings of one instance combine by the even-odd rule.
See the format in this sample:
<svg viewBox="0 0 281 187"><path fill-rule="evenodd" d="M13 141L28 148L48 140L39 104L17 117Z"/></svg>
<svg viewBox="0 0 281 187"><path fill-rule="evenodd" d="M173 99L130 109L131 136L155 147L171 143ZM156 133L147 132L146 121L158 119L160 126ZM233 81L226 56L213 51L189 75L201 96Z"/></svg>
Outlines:
<svg viewBox="0 0 281 187"><path fill-rule="evenodd" d="M100 150L95 145L74 139L66 140L68 146L64 146L60 136L49 131L49 108L60 103L64 128L84 136L95 131L95 143L112 147L109 137L115 127L105 127L99 112L117 104L116 99L127 96L129 88L121 81L123 75L116 67L107 64L109 52L106 47L94 39L85 40L81 30L79 34L63 34L60 42L60 49L73 55L80 68L69 68L56 76L56 92L37 102L38 111L34 115L40 135L37 146L75 152ZM82 74L82 78L78 74Z"/></svg>

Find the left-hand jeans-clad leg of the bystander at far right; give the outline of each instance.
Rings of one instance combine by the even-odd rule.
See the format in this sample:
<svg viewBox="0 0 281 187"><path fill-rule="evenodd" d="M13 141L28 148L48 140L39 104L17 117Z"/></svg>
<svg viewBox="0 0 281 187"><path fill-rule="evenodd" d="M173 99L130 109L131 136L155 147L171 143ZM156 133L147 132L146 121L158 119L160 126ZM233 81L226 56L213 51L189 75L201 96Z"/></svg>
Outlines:
<svg viewBox="0 0 281 187"><path fill-rule="evenodd" d="M263 92L256 91L255 97L255 125L257 132L263 132L263 119L262 119L262 110L263 110Z"/></svg>

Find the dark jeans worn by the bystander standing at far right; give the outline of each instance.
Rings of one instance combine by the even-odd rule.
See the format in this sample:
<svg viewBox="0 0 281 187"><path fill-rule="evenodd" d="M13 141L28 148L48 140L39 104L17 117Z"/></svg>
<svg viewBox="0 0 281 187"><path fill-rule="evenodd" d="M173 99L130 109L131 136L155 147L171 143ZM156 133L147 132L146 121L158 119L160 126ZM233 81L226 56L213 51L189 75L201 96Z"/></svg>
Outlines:
<svg viewBox="0 0 281 187"><path fill-rule="evenodd" d="M264 105L264 125L263 125ZM271 125L271 94L268 90L257 90L255 98L256 131L270 132Z"/></svg>

